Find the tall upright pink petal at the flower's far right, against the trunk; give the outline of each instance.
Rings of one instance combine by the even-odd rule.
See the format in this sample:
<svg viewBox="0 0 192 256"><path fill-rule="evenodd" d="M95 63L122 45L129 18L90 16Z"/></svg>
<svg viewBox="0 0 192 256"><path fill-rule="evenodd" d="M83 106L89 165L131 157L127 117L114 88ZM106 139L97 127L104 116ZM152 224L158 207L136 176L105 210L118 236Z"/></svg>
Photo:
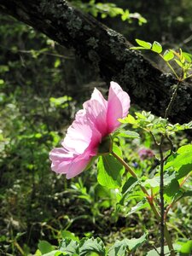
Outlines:
<svg viewBox="0 0 192 256"><path fill-rule="evenodd" d="M130 108L130 96L121 89L119 84L111 82L108 94L108 132L111 133L120 125L118 119L127 116Z"/></svg>

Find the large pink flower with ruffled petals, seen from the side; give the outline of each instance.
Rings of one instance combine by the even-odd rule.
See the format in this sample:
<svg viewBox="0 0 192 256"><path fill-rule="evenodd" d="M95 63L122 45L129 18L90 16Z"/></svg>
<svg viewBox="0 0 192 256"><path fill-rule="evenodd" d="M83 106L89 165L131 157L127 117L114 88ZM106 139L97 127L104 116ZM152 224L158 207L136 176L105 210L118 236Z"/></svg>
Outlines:
<svg viewBox="0 0 192 256"><path fill-rule="evenodd" d="M49 154L51 169L66 174L67 178L83 172L96 156L102 138L119 127L118 119L123 119L128 114L130 97L119 84L111 82L108 101L95 88L83 107L69 126L61 143L62 148L55 148Z"/></svg>

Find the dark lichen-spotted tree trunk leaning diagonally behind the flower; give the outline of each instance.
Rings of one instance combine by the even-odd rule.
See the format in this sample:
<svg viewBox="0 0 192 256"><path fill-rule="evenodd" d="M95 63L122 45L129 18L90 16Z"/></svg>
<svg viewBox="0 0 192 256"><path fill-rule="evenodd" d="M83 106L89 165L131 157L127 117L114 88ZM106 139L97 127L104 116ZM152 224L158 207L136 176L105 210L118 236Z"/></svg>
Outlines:
<svg viewBox="0 0 192 256"><path fill-rule="evenodd" d="M118 82L131 102L163 116L176 80L162 73L131 44L90 15L74 9L65 0L0 0L0 10L43 32L59 44L73 48L90 61L107 82ZM170 119L189 122L192 117L192 86L181 84Z"/></svg>

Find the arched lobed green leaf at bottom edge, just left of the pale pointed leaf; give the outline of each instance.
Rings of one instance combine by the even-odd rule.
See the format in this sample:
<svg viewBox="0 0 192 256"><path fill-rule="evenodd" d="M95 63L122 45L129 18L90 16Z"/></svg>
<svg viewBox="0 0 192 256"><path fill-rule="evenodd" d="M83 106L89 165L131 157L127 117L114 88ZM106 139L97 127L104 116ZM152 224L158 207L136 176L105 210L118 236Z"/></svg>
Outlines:
<svg viewBox="0 0 192 256"><path fill-rule="evenodd" d="M105 253L105 246L102 240L97 238L83 238L80 241L80 248L79 248L79 255L84 256L87 253L97 253L98 255L104 256Z"/></svg>

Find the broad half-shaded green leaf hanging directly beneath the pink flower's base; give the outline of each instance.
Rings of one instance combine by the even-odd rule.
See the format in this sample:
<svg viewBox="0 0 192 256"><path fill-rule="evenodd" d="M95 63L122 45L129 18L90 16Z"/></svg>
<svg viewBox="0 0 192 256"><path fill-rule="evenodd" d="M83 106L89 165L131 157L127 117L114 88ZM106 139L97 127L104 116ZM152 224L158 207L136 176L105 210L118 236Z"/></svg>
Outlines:
<svg viewBox="0 0 192 256"><path fill-rule="evenodd" d="M97 180L102 186L108 187L108 189L116 189L121 186L121 177L125 172L125 168L113 155L100 156L97 163L97 170Z"/></svg>

